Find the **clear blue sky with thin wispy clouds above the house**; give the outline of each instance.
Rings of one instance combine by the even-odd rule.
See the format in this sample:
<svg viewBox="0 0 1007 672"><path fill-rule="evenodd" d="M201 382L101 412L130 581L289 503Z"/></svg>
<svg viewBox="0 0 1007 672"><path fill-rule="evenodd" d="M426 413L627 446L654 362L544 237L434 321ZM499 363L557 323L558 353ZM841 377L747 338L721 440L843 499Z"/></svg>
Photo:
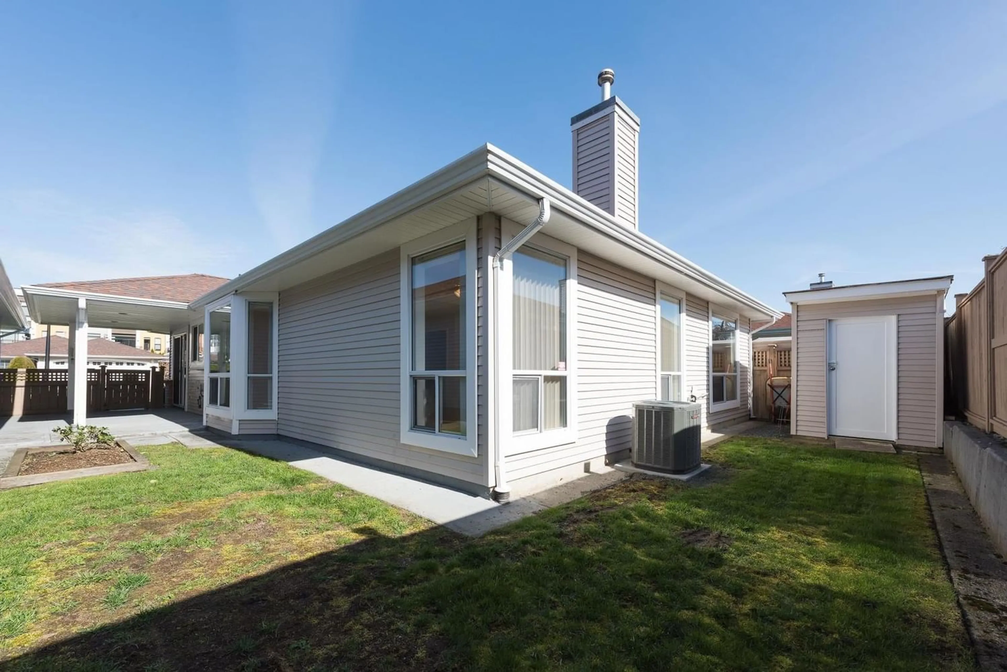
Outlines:
<svg viewBox="0 0 1007 672"><path fill-rule="evenodd" d="M0 62L15 284L234 276L484 142L569 185L601 68L641 230L776 307L1007 245L1003 2L10 1Z"/></svg>

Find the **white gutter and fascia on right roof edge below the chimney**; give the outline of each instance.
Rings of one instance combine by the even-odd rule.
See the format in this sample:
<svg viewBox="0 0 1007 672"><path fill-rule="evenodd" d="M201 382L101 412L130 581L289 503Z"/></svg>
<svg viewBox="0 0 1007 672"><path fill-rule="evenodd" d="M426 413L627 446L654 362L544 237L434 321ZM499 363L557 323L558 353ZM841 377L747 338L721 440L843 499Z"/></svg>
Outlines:
<svg viewBox="0 0 1007 672"><path fill-rule="evenodd" d="M645 254L691 280L699 282L742 305L748 306L760 315L765 315L773 320L782 316L783 313L770 308L765 303L721 280L713 273L704 270L654 239L619 224L614 217L597 206L588 203L562 184L549 179L507 152L492 145L488 145L488 148L489 170L498 179L537 198L548 196L554 209L558 209L576 220L601 231L609 238Z"/></svg>

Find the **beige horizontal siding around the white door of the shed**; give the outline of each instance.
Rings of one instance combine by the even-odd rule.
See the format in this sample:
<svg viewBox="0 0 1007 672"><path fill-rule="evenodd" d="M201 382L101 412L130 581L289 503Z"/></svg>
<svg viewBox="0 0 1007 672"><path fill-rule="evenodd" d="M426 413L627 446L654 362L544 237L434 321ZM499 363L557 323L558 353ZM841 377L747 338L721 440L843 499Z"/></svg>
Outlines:
<svg viewBox="0 0 1007 672"><path fill-rule="evenodd" d="M798 310L797 433L825 436L826 326L838 317L897 315L898 442L937 444L937 327L932 294L900 298L801 304Z"/></svg>

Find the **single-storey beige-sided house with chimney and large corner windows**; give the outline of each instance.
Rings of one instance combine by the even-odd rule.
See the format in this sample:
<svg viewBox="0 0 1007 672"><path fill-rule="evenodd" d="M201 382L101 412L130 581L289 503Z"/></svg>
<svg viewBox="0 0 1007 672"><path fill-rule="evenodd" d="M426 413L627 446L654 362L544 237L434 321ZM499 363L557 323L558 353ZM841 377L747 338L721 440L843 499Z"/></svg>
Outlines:
<svg viewBox="0 0 1007 672"><path fill-rule="evenodd" d="M636 401L747 420L778 313L640 233L638 129L574 117L573 190L484 145L193 302L205 424L506 496L624 454Z"/></svg>

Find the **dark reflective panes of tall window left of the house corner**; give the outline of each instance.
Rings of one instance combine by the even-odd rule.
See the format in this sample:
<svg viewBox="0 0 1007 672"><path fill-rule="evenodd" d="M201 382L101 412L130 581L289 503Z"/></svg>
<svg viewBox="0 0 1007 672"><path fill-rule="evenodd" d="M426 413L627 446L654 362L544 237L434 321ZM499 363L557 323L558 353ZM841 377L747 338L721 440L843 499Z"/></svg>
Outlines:
<svg viewBox="0 0 1007 672"><path fill-rule="evenodd" d="M411 426L466 436L465 243L410 259Z"/></svg>

